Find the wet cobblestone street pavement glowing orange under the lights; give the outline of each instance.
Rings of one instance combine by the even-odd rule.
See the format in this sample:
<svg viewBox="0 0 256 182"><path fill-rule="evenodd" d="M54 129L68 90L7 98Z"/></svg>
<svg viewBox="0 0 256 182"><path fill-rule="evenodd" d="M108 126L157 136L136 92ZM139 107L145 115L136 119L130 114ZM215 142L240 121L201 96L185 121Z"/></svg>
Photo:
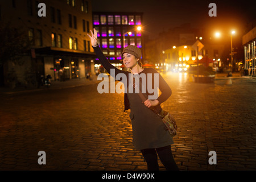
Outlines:
<svg viewBox="0 0 256 182"><path fill-rule="evenodd" d="M256 169L256 80L164 78L172 96L162 104L176 118L172 144L181 170ZM146 170L132 144L123 94L99 94L97 84L0 95L0 170ZM46 165L38 152L46 152ZM208 163L216 151L217 164ZM160 163L160 170L164 170Z"/></svg>

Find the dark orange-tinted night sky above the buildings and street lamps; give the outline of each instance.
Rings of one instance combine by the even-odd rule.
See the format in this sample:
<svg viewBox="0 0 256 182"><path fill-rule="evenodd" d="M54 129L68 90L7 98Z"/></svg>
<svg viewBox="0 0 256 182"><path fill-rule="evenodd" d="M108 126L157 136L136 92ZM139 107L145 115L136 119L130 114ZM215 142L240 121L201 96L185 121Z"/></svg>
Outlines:
<svg viewBox="0 0 256 182"><path fill-rule="evenodd" d="M217 16L210 17L209 3L216 3ZM254 3L253 3L254 2ZM93 11L142 12L143 30L149 38L159 32L191 23L193 28L207 27L214 31L235 29L242 37L245 24L255 18L255 1L152 1L152 0L93 0Z"/></svg>

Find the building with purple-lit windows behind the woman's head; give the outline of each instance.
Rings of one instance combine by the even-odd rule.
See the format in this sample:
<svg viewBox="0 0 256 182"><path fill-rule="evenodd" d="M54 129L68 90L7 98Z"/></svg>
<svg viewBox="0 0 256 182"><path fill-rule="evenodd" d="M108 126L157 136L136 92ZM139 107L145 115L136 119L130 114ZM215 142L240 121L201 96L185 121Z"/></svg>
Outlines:
<svg viewBox="0 0 256 182"><path fill-rule="evenodd" d="M137 46L142 51L142 13L93 12L93 27L98 32L98 45L116 67L123 67L124 47ZM98 65L100 67L100 65Z"/></svg>

